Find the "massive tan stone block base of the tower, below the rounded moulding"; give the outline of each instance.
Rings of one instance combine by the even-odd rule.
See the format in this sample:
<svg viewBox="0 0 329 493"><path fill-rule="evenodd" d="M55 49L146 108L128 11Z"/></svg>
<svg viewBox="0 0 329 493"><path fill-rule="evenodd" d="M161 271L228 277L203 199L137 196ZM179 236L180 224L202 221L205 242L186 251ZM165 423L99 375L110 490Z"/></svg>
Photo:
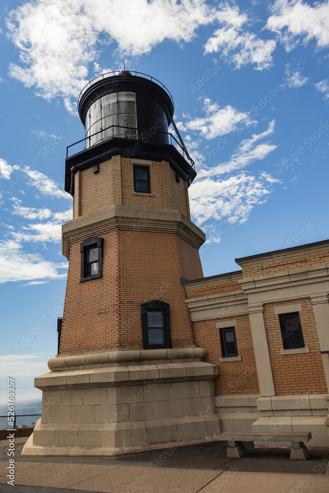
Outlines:
<svg viewBox="0 0 329 493"><path fill-rule="evenodd" d="M203 361L47 373L35 380L42 414L22 455L120 455L217 440L217 375Z"/></svg>

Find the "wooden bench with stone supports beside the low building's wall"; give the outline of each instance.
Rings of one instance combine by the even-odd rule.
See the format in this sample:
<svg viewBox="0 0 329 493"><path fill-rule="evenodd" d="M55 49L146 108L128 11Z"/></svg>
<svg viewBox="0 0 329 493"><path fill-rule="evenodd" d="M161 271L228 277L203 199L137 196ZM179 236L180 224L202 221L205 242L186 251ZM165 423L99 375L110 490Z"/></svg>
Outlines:
<svg viewBox="0 0 329 493"><path fill-rule="evenodd" d="M311 432L299 433L297 431L226 431L220 433L220 440L227 440L226 457L243 457L247 454L246 447L241 442L291 442L291 459L306 460L308 451L304 442L312 438Z"/></svg>

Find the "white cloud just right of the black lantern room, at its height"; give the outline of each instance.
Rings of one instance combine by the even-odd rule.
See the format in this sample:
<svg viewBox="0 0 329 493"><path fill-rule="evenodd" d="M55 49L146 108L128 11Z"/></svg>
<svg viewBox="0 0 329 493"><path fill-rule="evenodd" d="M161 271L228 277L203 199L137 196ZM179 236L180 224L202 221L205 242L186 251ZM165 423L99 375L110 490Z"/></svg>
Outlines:
<svg viewBox="0 0 329 493"><path fill-rule="evenodd" d="M205 117L192 119L188 116L189 120L184 123L178 122L179 130L201 132L206 139L214 139L256 123L248 113L238 111L229 105L221 108L209 98L205 98L203 110L206 112Z"/></svg>

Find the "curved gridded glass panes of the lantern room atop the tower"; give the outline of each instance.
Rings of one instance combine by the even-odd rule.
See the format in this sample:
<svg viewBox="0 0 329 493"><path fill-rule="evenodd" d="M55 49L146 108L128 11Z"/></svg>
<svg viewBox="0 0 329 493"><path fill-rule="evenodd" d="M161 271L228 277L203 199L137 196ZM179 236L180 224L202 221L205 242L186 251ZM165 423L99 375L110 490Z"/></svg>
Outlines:
<svg viewBox="0 0 329 493"><path fill-rule="evenodd" d="M135 93L107 94L90 106L86 117L86 147L111 137L137 139Z"/></svg>

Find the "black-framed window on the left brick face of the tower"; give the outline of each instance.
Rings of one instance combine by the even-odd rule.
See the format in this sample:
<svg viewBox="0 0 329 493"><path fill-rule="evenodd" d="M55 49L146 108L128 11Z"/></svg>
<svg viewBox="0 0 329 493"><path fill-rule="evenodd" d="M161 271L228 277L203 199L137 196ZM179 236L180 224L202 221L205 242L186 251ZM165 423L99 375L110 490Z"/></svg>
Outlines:
<svg viewBox="0 0 329 493"><path fill-rule="evenodd" d="M81 279L80 282L102 277L103 238L90 236L80 243Z"/></svg>

